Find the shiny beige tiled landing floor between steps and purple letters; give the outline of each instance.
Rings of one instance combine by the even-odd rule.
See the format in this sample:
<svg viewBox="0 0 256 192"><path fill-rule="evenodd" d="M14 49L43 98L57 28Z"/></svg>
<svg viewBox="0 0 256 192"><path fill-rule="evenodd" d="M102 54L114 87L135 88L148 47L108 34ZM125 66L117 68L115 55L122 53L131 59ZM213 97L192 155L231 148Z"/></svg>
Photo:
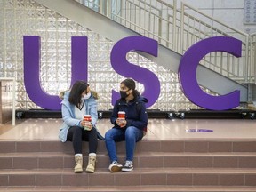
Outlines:
<svg viewBox="0 0 256 192"><path fill-rule="evenodd" d="M60 118L31 118L16 120L15 126L1 124L0 140L58 140L61 123ZM255 140L255 123L251 119L149 119L143 140ZM98 122L102 135L111 127L109 119Z"/></svg>

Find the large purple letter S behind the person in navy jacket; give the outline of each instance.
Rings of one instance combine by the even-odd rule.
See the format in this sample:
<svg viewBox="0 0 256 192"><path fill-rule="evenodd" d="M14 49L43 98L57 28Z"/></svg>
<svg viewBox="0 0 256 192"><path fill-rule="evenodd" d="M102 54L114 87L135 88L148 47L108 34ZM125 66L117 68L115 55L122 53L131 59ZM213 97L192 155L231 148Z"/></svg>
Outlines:
<svg viewBox="0 0 256 192"><path fill-rule="evenodd" d="M160 82L157 76L146 68L140 68L126 60L126 54L130 51L147 52L157 56L157 42L154 39L143 36L129 36L117 42L111 52L111 65L116 73L132 77L134 80L144 84L143 96L148 98L146 107L152 106L160 94ZM112 91L112 104L120 98L118 92Z"/></svg>

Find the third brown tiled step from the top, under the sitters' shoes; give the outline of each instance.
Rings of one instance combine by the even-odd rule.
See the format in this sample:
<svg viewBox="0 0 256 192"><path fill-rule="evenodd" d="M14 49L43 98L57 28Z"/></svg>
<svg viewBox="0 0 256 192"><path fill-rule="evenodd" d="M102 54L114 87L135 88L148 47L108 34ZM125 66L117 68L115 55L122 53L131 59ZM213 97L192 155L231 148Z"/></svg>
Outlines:
<svg viewBox="0 0 256 192"><path fill-rule="evenodd" d="M70 169L0 172L2 186L252 186L255 169L135 169L111 173L74 173Z"/></svg>

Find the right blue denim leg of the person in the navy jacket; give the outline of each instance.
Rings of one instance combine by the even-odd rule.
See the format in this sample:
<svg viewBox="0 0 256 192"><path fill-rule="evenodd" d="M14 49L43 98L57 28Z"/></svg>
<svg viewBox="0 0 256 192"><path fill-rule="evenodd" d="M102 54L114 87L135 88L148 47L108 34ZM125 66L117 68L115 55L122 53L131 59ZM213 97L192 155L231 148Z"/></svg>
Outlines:
<svg viewBox="0 0 256 192"><path fill-rule="evenodd" d="M125 131L125 146L126 146L126 161L133 160L133 154L136 142L143 138L143 131L134 127L129 126Z"/></svg>

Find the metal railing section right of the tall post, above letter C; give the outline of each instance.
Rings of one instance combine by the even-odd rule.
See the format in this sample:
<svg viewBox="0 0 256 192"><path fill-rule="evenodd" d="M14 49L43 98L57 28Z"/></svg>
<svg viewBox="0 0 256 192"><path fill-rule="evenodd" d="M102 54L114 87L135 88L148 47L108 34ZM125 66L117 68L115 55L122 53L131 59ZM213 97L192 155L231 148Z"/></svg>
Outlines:
<svg viewBox="0 0 256 192"><path fill-rule="evenodd" d="M199 14L200 15L200 19L196 18L194 15L192 15L191 13L187 13L187 12L196 12L196 14ZM224 75L224 76L228 76L229 78L232 78L233 80L236 80L240 83L251 83L252 82L252 79L254 79L254 77L252 76L249 76L249 71L250 71L250 68L251 67L251 63L249 62L249 60L247 59L249 57L249 35L244 33L243 31L240 31L236 28L231 28L229 27L228 25L226 25L225 23L222 23L220 22L219 20L215 20L213 19L212 17L204 14L203 12L200 12L198 10L196 10L196 8L188 5L188 4L183 4L181 3L181 16L180 16L180 23L181 23L181 36L183 38L180 39L181 41L181 50L180 52L183 53L185 52L189 46L191 46L192 44L187 44L187 46L185 46L185 43L183 43L184 39L186 39L185 37L185 25L187 25L187 28L189 30L189 28L193 28L194 26L189 26L189 23L186 23L185 21L185 18L189 20L193 20L194 22L197 22L200 26L204 26L204 28L207 28L207 29L211 29L210 31L207 31L207 33L210 33L211 32L213 33L216 33L218 34L218 36L232 36L232 37L235 37L239 40L242 41L242 50L243 50L243 54L242 54L242 59L237 59L235 56L232 56L232 55L228 55L228 56L224 56L224 54L221 53L221 56L222 56L222 59L220 60L220 64L222 65L222 60L227 58L227 68L229 66L230 70L225 70L225 68L221 68L220 71L218 71L220 74ZM220 28L215 28L215 27L212 27L211 25L209 25L208 23L202 21L202 20L211 20L213 23L218 23L218 25L221 26L222 30ZM194 23L195 24L195 23ZM225 32L224 29L229 30L229 32ZM194 28L195 30L195 28ZM231 32L232 33L231 33ZM197 32L198 32L198 29L197 29ZM204 33L204 31L200 30L200 33L199 35L200 36L205 36L207 37L207 33ZM190 36L195 36L195 31L193 31L193 33L190 33L188 32L187 34L188 38ZM213 35L211 35L213 36ZM203 39L203 37L200 37L200 39ZM187 39L187 42L188 42L188 39ZM185 47L184 47L185 46ZM224 57L224 58L223 58ZM232 58L232 60L239 60L239 63L240 65L244 66L244 68L242 68L243 70L241 70L241 67L237 66L236 68L239 68L240 70L236 69L236 71L234 70L234 66L235 64L231 63L232 60L228 60L228 58ZM204 61L205 61L205 58L204 58ZM233 66L231 66L233 64ZM212 69L214 70L214 68L218 68L218 65L216 63L212 63ZM242 74L241 74L242 73Z"/></svg>

